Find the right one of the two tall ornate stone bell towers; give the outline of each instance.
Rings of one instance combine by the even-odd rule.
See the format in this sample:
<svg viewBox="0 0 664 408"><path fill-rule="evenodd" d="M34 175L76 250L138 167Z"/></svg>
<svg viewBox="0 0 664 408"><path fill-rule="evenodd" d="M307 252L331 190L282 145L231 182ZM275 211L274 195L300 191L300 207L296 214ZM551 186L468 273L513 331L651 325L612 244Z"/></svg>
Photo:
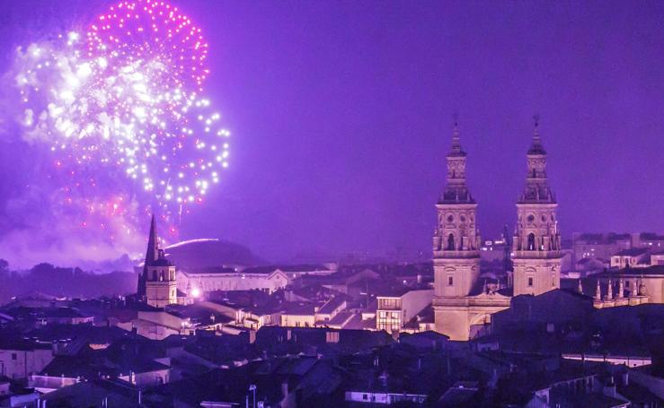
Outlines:
<svg viewBox="0 0 664 408"><path fill-rule="evenodd" d="M561 235L555 195L546 182L546 152L535 124L527 152L526 187L517 203L512 242L514 295L539 295L560 288Z"/></svg>

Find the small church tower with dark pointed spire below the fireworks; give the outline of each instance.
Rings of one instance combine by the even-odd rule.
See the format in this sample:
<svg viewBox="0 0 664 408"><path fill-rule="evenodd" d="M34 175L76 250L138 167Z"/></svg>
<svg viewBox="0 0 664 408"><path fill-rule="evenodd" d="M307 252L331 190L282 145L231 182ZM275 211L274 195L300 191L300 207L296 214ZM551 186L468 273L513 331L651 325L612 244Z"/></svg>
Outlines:
<svg viewBox="0 0 664 408"><path fill-rule="evenodd" d="M156 235L155 215L150 223L150 237L147 239L146 262L143 273L138 277L138 299L155 308L177 303L177 282L175 266L159 248Z"/></svg>

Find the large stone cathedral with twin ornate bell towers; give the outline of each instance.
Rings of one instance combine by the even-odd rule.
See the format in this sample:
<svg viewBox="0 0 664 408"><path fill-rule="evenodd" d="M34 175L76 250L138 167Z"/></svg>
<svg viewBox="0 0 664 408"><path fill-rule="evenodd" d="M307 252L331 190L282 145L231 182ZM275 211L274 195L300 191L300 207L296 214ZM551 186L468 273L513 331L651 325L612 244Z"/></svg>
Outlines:
<svg viewBox="0 0 664 408"><path fill-rule="evenodd" d="M447 184L436 204L433 237L435 325L451 340L468 340L491 322L491 314L509 308L513 296L560 288L558 204L546 181L546 152L536 124L527 151L526 186L517 201L513 272L507 271L505 282L480 279L478 204L466 185L466 153L456 124L446 159Z"/></svg>

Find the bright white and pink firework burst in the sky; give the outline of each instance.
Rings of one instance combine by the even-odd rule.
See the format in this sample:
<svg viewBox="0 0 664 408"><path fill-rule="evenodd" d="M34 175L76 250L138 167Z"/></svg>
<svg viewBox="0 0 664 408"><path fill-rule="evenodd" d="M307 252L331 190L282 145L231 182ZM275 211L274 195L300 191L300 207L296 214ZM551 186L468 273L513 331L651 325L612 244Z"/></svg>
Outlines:
<svg viewBox="0 0 664 408"><path fill-rule="evenodd" d="M230 135L202 96L207 56L190 18L152 0L120 2L86 32L19 49L24 134L48 146L63 204L103 225L130 203L174 221L204 201L228 165Z"/></svg>

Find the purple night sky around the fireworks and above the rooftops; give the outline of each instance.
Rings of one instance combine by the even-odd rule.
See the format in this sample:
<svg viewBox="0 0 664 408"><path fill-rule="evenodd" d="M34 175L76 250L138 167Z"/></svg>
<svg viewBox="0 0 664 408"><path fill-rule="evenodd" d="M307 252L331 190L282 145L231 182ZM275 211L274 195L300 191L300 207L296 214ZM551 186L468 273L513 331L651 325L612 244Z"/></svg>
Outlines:
<svg viewBox="0 0 664 408"><path fill-rule="evenodd" d="M233 132L230 169L181 239L275 261L427 254L455 113L483 237L511 230L535 114L563 237L664 231L661 2L172 3L209 41L208 93ZM109 4L3 2L2 68ZM13 171L31 158L5 145L0 159L8 234L22 228L4 209Z"/></svg>

